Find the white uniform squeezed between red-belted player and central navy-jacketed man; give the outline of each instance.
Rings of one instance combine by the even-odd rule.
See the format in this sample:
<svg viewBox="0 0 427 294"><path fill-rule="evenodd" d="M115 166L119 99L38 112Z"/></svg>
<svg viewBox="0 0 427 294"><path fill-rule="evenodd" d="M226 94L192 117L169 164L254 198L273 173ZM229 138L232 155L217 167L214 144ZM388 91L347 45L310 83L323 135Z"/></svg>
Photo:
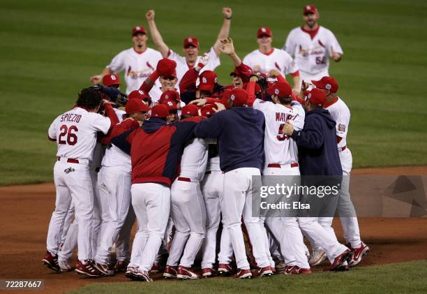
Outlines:
<svg viewBox="0 0 427 294"><path fill-rule="evenodd" d="M202 269L212 268L216 263L216 234L220 223L220 200L224 196L224 174L220 169L220 158L218 145L215 139L206 139L209 142L209 152L215 153L207 164L202 186L202 194L206 205L206 237L202 246ZM216 155L217 154L217 155ZM223 225L220 236L220 252L218 253L218 262L229 264L232 260L233 247L227 228Z"/></svg>

